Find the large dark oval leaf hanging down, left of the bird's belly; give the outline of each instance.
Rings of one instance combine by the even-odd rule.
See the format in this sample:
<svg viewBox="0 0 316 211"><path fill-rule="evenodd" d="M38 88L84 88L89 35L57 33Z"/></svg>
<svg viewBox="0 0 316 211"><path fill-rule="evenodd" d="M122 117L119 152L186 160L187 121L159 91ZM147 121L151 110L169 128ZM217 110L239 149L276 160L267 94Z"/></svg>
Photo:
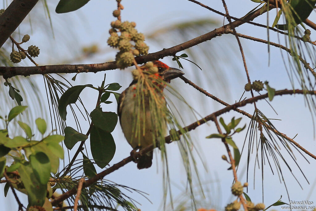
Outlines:
<svg viewBox="0 0 316 211"><path fill-rule="evenodd" d="M111 133L93 126L90 133L90 148L95 163L104 168L112 160L116 146Z"/></svg>

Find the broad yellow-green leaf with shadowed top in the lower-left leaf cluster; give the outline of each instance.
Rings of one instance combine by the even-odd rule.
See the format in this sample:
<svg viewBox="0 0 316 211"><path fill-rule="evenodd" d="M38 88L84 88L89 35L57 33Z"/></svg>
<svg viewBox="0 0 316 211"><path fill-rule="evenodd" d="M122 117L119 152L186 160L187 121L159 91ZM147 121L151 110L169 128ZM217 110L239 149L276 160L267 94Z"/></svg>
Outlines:
<svg viewBox="0 0 316 211"><path fill-rule="evenodd" d="M44 152L30 155L30 164L41 184L47 184L51 176L51 163Z"/></svg>

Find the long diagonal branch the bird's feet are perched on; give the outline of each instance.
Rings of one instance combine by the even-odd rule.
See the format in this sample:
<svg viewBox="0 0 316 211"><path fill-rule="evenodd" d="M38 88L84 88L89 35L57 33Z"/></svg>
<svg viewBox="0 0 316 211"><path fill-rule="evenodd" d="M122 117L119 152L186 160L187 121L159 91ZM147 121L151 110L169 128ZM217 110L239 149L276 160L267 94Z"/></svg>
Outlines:
<svg viewBox="0 0 316 211"><path fill-rule="evenodd" d="M285 89L285 90L279 90L279 91L275 92L275 96L278 96L278 95L292 95L292 94L316 95L316 91L287 90L287 89ZM233 105L229 105L229 106L227 106L227 107L225 107L225 108L223 108L221 110L218 110L218 111L214 112L213 114L210 114L210 115L204 117L203 119L200 119L200 120L192 123L189 126L184 127L183 129L185 131L189 132L191 130L194 130L198 126L204 124L205 122L210 121L210 120L216 118L217 116L222 115L222 114L224 114L226 112L229 112L230 110L235 110L238 107L245 106L246 104L249 104L249 103L257 102L258 100L265 99L267 97L268 97L268 94L264 94L264 95L260 95L260 96L256 96L256 97L252 97L252 98L243 100L241 102L237 102L237 103L235 103ZM178 130L177 132L178 132L178 134L181 134L180 130ZM166 143L171 143L172 142L170 135L165 137L165 142ZM152 145L147 146L146 148L142 149L140 151L140 153L144 154L146 152L152 151L153 149L154 149L154 145L152 144ZM103 177L105 177L106 175L112 173L113 171L118 170L120 167L122 167L125 164L131 162L132 160L133 160L132 156L129 156L129 157L123 159L122 161L120 161L119 163L112 165L110 168L108 168L108 169L98 173L94 177L91 177L90 179L86 180L83 183L82 188L85 188L85 187L88 187L88 186L92 185L93 183L97 182L98 180L102 179ZM76 194L76 192L77 192L77 187L68 190L64 194L62 194L62 195L56 197L55 199L53 199L52 200L52 205L56 206L59 202L63 202L64 200L66 200L70 196Z"/></svg>

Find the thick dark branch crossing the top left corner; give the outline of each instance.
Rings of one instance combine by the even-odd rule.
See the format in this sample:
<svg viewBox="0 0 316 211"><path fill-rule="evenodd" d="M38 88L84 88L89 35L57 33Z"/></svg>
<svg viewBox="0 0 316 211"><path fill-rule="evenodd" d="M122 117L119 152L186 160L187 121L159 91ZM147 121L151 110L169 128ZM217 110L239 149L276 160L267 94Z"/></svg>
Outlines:
<svg viewBox="0 0 316 211"><path fill-rule="evenodd" d="M14 0L0 16L0 48L21 24L38 0Z"/></svg>

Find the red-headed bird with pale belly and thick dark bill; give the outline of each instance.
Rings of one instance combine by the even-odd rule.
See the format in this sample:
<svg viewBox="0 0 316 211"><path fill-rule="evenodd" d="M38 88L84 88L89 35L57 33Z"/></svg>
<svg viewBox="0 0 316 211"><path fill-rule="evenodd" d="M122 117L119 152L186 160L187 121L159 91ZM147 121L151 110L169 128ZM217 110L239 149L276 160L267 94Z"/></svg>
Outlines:
<svg viewBox="0 0 316 211"><path fill-rule="evenodd" d="M119 122L126 140L137 149L145 148L167 134L167 119L164 116L166 100L163 90L167 83L184 74L161 61L147 62L133 72L133 81L118 100ZM152 165L153 152L134 156L138 169Z"/></svg>

